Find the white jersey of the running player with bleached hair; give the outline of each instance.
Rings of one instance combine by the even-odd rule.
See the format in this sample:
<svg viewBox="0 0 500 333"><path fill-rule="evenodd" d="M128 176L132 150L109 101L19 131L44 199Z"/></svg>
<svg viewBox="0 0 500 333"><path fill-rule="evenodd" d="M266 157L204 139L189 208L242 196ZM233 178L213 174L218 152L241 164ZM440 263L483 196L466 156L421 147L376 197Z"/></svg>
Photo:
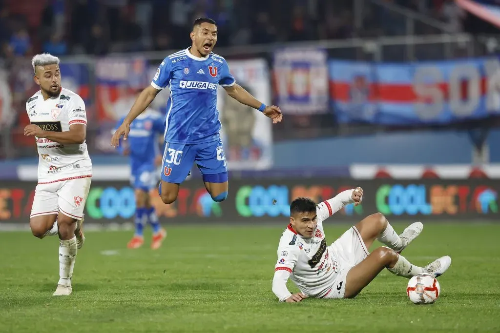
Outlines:
<svg viewBox="0 0 500 333"><path fill-rule="evenodd" d="M46 131L64 132L69 131L71 124L87 123L83 100L64 88L57 97L47 100L43 100L38 91L27 100L26 112L31 124ZM85 143L60 144L38 137L35 140L39 156L38 184L92 175L92 162Z"/></svg>

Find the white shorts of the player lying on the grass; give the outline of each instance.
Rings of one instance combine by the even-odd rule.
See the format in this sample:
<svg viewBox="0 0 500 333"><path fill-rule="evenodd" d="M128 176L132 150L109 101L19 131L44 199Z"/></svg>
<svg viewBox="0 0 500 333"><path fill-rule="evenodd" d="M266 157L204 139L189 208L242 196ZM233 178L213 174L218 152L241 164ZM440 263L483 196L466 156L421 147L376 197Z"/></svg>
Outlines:
<svg viewBox="0 0 500 333"><path fill-rule="evenodd" d="M321 298L341 299L345 294L345 278L349 270L364 260L369 254L356 227L342 234L329 249L336 259L339 272L331 289Z"/></svg>

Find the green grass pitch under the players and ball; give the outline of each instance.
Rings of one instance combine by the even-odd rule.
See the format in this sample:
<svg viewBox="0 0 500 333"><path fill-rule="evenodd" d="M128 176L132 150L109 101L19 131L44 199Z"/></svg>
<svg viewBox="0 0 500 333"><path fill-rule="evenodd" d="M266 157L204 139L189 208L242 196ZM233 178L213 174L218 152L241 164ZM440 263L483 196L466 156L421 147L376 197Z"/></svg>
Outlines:
<svg viewBox="0 0 500 333"><path fill-rule="evenodd" d="M349 227L328 222L329 242ZM87 232L63 298L51 296L57 237L0 233L0 332L500 332L500 225L424 224L403 255L452 264L436 303L415 306L407 280L387 271L353 300L278 303L271 280L285 224L169 227L157 251L149 235L127 250L130 232Z"/></svg>

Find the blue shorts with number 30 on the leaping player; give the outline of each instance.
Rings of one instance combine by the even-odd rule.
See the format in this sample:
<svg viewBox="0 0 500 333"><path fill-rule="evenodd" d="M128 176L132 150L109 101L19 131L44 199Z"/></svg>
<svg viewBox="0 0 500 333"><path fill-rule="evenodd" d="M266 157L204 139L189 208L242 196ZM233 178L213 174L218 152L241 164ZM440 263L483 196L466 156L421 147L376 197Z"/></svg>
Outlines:
<svg viewBox="0 0 500 333"><path fill-rule="evenodd" d="M198 144L167 142L163 153L161 180L167 183L182 183L193 163L198 166L203 179L206 175L225 174L225 180L223 176L219 177L223 181L207 181L225 182L227 180L227 164L220 139Z"/></svg>

